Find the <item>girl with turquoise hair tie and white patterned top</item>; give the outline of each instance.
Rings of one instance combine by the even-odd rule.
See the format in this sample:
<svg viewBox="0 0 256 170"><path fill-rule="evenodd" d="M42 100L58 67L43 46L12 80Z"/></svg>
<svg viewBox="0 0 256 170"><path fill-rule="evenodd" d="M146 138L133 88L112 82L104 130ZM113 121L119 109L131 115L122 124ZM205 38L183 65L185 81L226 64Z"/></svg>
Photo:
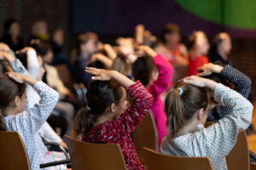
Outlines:
<svg viewBox="0 0 256 170"><path fill-rule="evenodd" d="M186 77L166 97L168 135L161 151L172 156L208 156L213 169L227 169L225 156L236 144L237 134L252 119L253 105L241 94L201 77ZM231 108L230 114L204 128L212 90L216 102Z"/></svg>

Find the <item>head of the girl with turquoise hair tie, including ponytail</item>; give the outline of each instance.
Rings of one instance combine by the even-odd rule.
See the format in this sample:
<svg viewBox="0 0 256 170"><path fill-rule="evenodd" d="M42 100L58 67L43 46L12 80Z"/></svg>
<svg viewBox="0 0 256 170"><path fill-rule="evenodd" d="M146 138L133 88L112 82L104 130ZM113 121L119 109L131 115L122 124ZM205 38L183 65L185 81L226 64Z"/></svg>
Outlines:
<svg viewBox="0 0 256 170"><path fill-rule="evenodd" d="M179 95L182 88L183 94ZM192 132L198 124L207 121L210 95L206 88L198 88L193 85L177 83L175 88L166 96L166 126L170 137L177 135L180 129L190 126Z"/></svg>

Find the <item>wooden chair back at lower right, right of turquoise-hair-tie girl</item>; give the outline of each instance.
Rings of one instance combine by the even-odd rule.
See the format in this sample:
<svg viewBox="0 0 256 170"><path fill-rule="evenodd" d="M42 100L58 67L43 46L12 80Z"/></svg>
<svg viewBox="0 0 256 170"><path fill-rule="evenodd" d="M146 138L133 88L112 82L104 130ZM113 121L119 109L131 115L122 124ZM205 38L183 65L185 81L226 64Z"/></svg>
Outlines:
<svg viewBox="0 0 256 170"><path fill-rule="evenodd" d="M205 127L211 126L214 122L206 122ZM227 167L230 170L249 169L250 158L247 144L247 134L241 131L237 135L236 144L226 156Z"/></svg>

